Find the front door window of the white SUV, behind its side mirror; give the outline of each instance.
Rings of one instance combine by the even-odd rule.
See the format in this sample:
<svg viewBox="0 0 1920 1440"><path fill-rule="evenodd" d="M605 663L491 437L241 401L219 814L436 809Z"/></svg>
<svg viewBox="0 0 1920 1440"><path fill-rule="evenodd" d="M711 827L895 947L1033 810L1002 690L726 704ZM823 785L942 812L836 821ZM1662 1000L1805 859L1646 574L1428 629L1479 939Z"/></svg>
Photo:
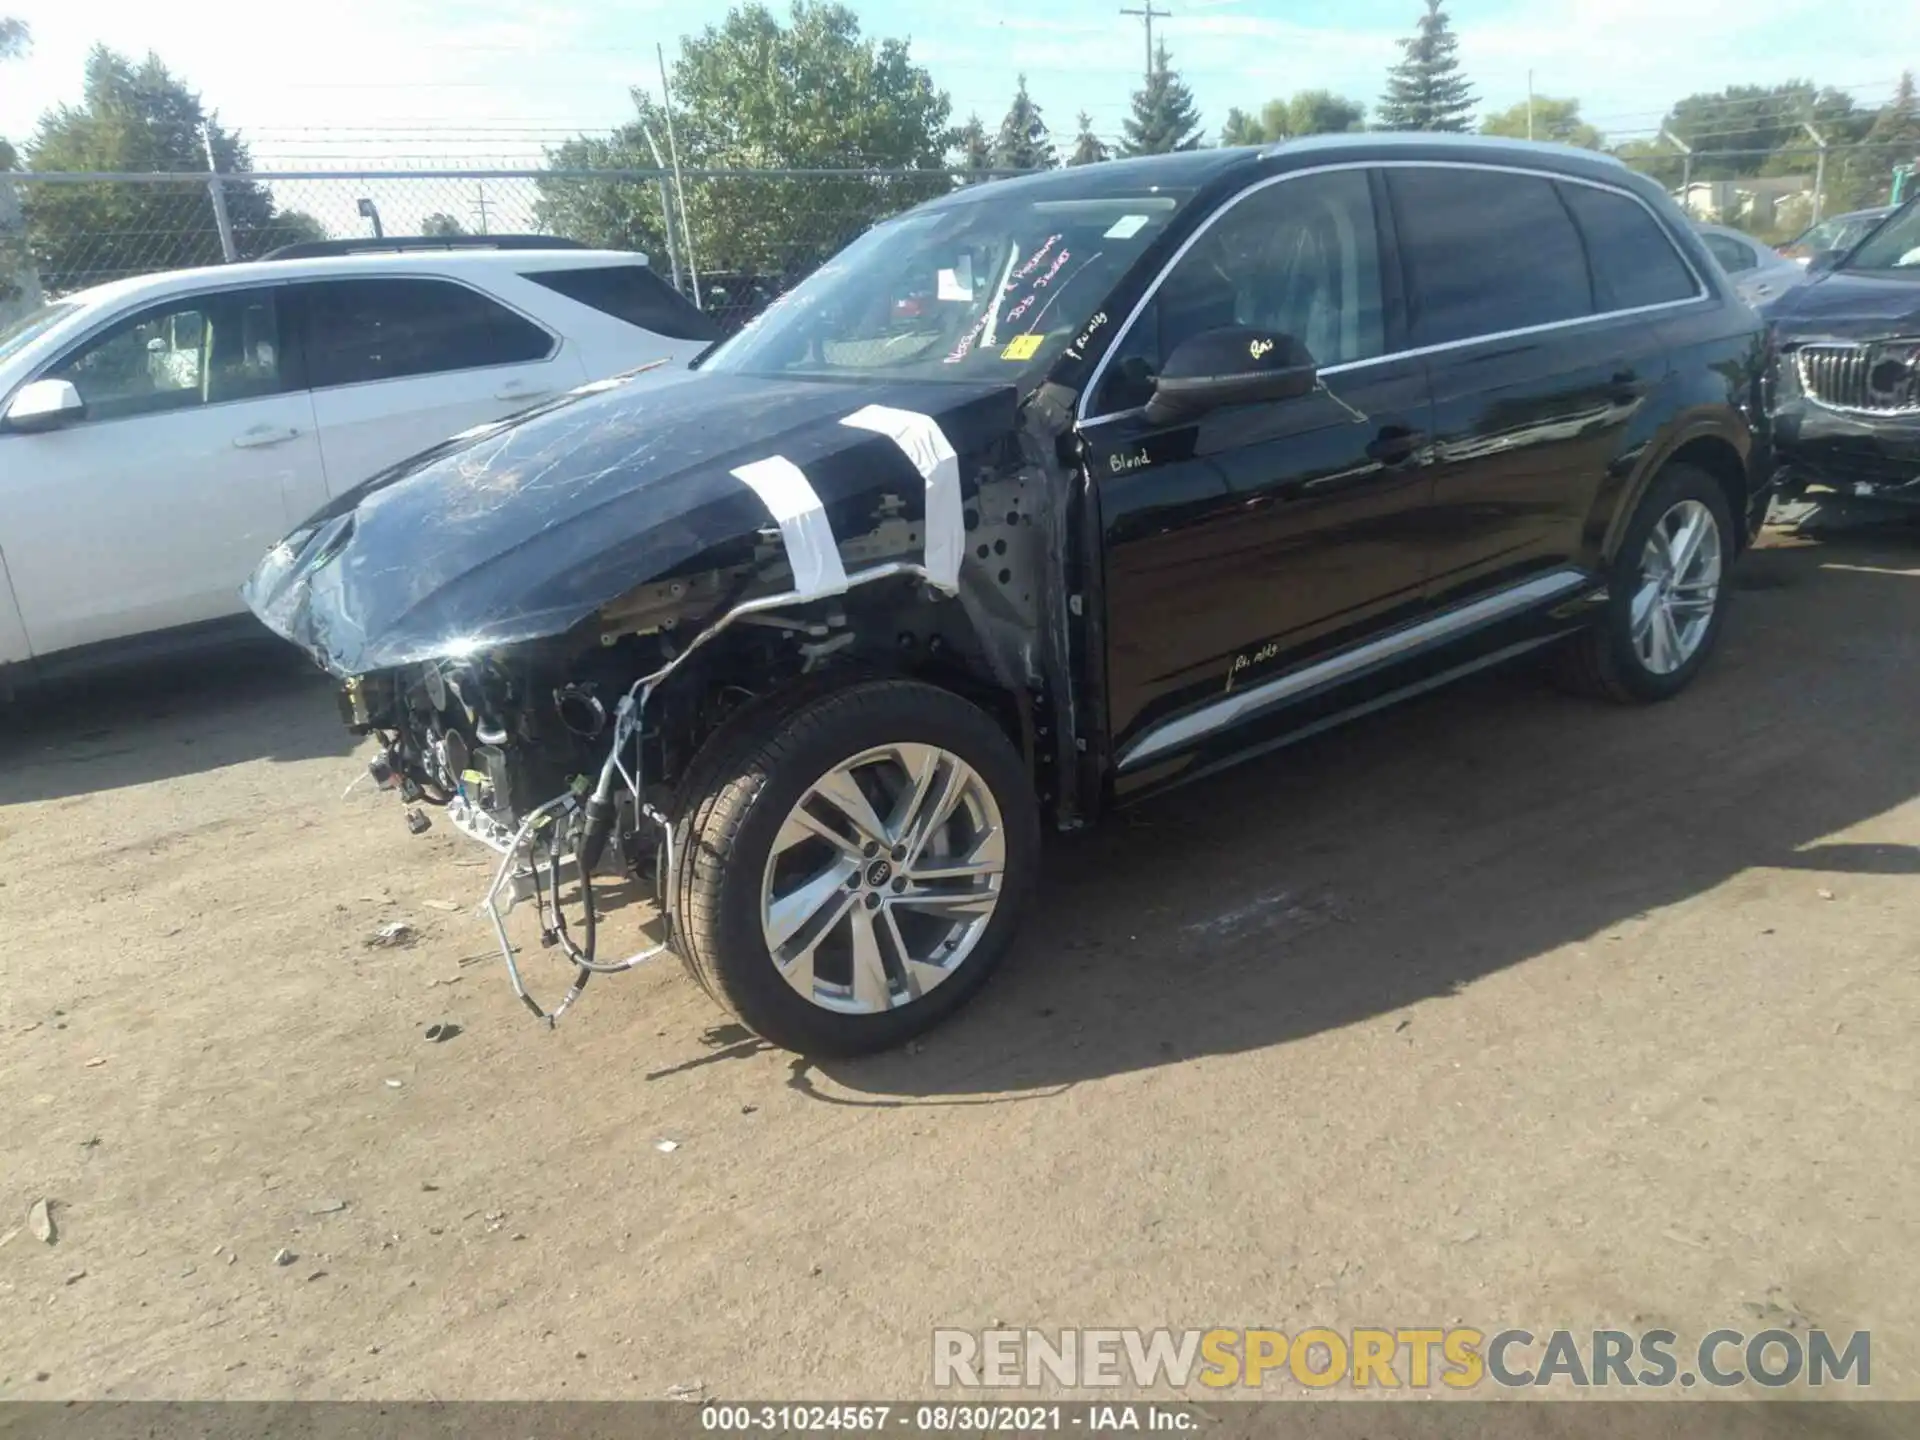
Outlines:
<svg viewBox="0 0 1920 1440"><path fill-rule="evenodd" d="M150 305L54 365L88 420L219 405L284 390L273 290L232 290Z"/></svg>

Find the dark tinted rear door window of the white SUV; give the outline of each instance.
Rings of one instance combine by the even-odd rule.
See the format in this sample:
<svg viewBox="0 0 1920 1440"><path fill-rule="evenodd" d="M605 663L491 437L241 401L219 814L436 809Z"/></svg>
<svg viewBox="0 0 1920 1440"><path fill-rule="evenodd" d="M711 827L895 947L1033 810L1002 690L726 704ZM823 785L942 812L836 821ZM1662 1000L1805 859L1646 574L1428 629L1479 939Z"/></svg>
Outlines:
<svg viewBox="0 0 1920 1440"><path fill-rule="evenodd" d="M553 336L451 280L315 280L307 376L315 390L545 359Z"/></svg>

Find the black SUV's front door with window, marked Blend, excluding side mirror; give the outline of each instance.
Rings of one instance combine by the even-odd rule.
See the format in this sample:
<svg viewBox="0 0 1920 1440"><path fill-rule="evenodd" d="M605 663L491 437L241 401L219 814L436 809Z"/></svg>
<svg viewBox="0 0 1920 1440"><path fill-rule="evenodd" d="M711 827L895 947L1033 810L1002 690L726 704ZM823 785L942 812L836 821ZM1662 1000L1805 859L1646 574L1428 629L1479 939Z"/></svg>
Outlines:
<svg viewBox="0 0 1920 1440"><path fill-rule="evenodd" d="M1417 612L1427 374L1398 349L1377 182L1269 180L1225 209L1116 342L1083 445L1106 540L1110 733L1123 772L1217 737L1213 701ZM1187 336L1290 334L1323 384L1177 426L1137 409ZM1173 730L1167 720L1179 718Z"/></svg>

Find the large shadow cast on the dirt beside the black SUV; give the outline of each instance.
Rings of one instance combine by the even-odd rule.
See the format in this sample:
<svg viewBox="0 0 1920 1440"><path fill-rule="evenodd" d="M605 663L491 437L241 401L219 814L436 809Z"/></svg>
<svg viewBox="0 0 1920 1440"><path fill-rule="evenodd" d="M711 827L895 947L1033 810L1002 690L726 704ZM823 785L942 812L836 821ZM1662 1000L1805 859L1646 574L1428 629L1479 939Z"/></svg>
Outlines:
<svg viewBox="0 0 1920 1440"><path fill-rule="evenodd" d="M1920 874L1910 847L1828 839L1920 795L1916 555L1747 557L1722 651L1668 705L1509 670L1112 816L1054 847L1006 970L922 1052L793 1083L1046 1092L1448 996L1747 870Z"/></svg>

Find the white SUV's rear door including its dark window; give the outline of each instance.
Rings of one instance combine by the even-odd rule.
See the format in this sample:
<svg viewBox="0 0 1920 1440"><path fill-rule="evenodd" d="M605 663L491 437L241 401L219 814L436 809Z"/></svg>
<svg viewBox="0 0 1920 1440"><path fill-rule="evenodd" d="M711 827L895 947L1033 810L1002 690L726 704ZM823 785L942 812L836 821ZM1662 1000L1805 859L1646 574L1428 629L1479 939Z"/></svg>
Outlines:
<svg viewBox="0 0 1920 1440"><path fill-rule="evenodd" d="M332 493L588 378L576 346L444 276L305 280L301 344Z"/></svg>

